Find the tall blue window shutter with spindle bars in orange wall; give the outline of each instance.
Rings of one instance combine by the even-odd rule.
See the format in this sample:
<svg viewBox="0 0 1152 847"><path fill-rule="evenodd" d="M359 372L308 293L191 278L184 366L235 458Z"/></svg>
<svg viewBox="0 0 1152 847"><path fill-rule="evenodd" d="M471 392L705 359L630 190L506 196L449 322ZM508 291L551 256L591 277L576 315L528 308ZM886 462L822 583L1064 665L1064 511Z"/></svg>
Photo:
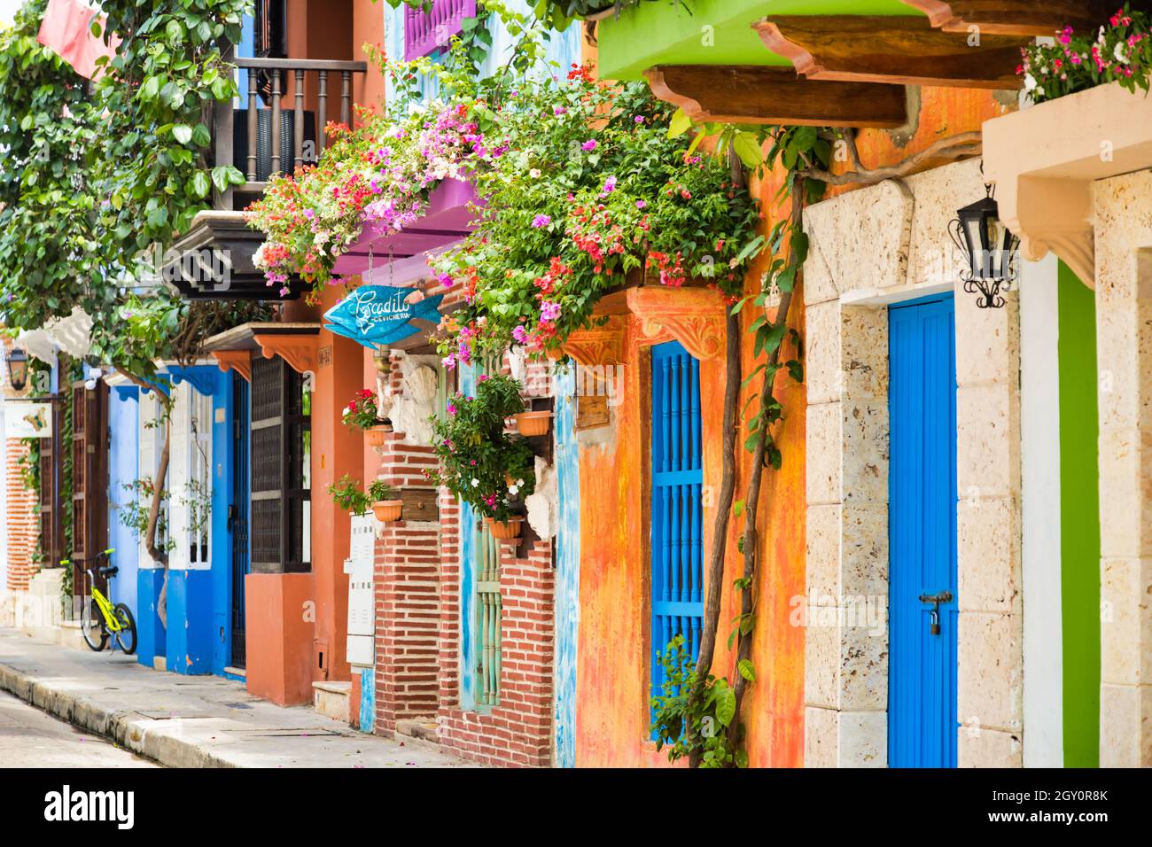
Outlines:
<svg viewBox="0 0 1152 847"><path fill-rule="evenodd" d="M699 649L703 593L700 365L679 342L652 348L652 690L676 635Z"/></svg>

